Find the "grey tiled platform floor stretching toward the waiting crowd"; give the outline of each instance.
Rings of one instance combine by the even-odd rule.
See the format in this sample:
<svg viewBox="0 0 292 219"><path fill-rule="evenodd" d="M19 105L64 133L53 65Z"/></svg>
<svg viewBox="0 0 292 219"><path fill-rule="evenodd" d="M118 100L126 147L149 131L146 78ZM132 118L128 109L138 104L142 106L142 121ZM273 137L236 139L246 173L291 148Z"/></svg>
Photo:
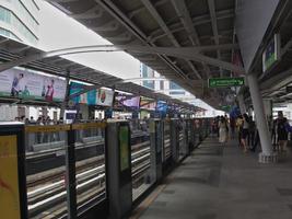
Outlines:
<svg viewBox="0 0 292 219"><path fill-rule="evenodd" d="M207 138L135 211L132 219L290 219L292 154L259 164L232 140Z"/></svg>

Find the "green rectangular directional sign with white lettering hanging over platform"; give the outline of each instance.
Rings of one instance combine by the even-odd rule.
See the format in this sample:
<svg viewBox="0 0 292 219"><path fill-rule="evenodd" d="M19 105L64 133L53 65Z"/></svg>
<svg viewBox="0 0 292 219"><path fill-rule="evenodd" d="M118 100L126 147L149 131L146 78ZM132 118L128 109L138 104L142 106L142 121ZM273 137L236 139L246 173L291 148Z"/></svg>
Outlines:
<svg viewBox="0 0 292 219"><path fill-rule="evenodd" d="M209 88L231 88L244 85L244 78L210 78Z"/></svg>

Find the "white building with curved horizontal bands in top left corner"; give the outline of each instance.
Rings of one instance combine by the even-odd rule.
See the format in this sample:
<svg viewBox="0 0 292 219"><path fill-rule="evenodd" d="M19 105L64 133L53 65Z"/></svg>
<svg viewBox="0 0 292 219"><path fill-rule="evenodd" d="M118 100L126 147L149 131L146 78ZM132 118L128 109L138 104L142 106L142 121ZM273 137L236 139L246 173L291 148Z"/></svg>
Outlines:
<svg viewBox="0 0 292 219"><path fill-rule="evenodd" d="M0 35L36 46L38 18L37 0L1 0Z"/></svg>

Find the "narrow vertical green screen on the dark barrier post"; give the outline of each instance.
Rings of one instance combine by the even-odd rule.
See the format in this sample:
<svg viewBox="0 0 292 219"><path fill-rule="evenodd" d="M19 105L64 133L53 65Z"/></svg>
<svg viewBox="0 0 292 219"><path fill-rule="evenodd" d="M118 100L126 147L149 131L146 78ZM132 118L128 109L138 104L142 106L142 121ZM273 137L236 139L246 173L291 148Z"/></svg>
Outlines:
<svg viewBox="0 0 292 219"><path fill-rule="evenodd" d="M121 126L119 128L119 149L120 149L120 171L129 168L129 128Z"/></svg>

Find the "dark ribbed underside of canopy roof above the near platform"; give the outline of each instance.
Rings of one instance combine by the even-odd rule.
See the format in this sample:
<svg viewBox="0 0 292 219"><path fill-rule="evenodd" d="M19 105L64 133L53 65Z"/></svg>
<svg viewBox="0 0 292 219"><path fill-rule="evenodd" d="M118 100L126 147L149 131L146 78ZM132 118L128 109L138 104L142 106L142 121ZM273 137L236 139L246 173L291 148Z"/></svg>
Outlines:
<svg viewBox="0 0 292 219"><path fill-rule="evenodd" d="M47 0L114 45L168 48L128 50L133 57L217 107L230 89L210 90L208 78L230 77L236 53L234 0ZM202 47L186 56L182 48ZM190 57L191 56L191 57Z"/></svg>

